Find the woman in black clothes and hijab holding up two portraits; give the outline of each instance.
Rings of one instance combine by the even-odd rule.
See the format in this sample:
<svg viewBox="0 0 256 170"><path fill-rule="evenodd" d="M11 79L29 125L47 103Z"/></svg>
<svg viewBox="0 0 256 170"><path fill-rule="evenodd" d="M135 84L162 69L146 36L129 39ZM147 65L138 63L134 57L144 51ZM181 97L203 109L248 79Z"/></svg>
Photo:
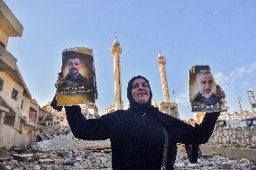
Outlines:
<svg viewBox="0 0 256 170"><path fill-rule="evenodd" d="M166 131L168 133L167 169L173 169L176 144L206 143L215 128L219 112L206 113L200 126L160 112L151 105L151 86L143 76L133 77L127 87L128 110L86 120L79 106L65 107L69 126L78 139L110 139L113 169L158 170L162 166ZM163 127L165 130L163 130Z"/></svg>

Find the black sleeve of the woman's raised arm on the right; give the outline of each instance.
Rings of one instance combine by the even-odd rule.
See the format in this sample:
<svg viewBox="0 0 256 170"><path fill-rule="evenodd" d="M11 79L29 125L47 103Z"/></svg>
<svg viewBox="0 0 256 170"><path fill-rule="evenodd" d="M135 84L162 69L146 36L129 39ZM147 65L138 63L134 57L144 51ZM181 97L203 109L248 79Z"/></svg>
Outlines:
<svg viewBox="0 0 256 170"><path fill-rule="evenodd" d="M206 112L204 120L196 127L172 118L169 122L169 132L177 143L204 144L211 137L219 114L220 112Z"/></svg>

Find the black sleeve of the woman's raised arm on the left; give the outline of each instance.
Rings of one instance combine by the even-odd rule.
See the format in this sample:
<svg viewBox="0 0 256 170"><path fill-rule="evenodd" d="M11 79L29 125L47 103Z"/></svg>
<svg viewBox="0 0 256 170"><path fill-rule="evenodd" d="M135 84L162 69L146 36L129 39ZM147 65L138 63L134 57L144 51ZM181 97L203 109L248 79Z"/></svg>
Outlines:
<svg viewBox="0 0 256 170"><path fill-rule="evenodd" d="M111 136L111 115L106 114L99 119L87 120L76 106L65 107L70 129L77 139L103 140Z"/></svg>

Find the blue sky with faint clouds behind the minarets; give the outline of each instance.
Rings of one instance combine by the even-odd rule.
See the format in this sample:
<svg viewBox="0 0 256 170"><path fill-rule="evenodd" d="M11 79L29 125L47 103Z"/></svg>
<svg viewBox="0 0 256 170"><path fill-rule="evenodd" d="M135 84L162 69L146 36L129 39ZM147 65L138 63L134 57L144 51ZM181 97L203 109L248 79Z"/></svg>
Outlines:
<svg viewBox="0 0 256 170"><path fill-rule="evenodd" d="M111 44L121 43L124 108L126 87L137 75L151 83L153 100L163 101L159 52L166 58L170 101L181 119L193 118L188 102L188 71L209 65L224 88L229 112L251 110L246 91L256 93L256 1L254 0L4 0L23 24L23 36L7 50L32 97L44 105L55 94L61 53L70 47L94 50L100 115L114 103L114 58ZM174 94L172 93L174 91Z"/></svg>

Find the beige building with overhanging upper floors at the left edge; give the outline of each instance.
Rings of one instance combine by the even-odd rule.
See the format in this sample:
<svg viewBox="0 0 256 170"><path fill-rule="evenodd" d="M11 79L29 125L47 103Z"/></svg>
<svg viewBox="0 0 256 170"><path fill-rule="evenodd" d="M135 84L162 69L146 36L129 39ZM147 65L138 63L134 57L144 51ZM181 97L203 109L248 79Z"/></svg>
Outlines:
<svg viewBox="0 0 256 170"><path fill-rule="evenodd" d="M17 59L6 49L10 37L21 37L23 25L0 0L0 147L27 144L36 135L39 105L32 100Z"/></svg>

